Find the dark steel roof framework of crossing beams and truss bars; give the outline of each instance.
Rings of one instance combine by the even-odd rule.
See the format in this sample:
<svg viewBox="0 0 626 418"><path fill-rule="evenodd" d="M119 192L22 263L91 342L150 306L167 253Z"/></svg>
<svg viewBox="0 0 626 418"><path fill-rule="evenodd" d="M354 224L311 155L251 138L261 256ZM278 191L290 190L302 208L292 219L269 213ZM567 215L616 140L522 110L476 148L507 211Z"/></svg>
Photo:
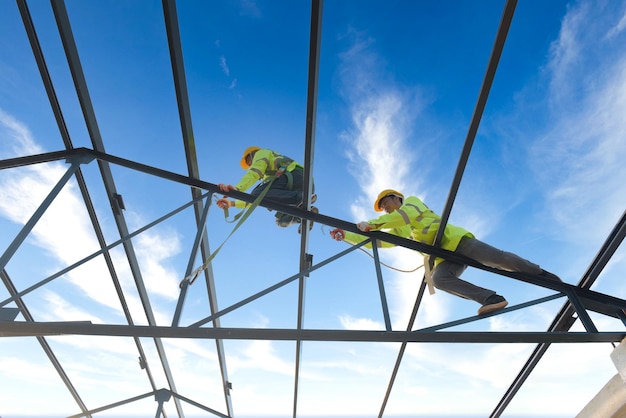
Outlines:
<svg viewBox="0 0 626 418"><path fill-rule="evenodd" d="M179 213L180 211L193 207L196 224L197 235L194 241L192 254L190 254L189 265L185 272L185 277L189 277L192 273L193 261L198 253L201 253L202 259L207 259L211 251L208 244L208 231L205 225L207 214L210 206L210 199L214 193L219 193L219 189L215 184L202 181L199 176L198 161L196 158L196 149L194 143L193 127L191 120L190 105L187 95L187 87L185 80L185 69L183 65L183 54L181 47L181 40L179 35L178 20L176 14L176 5L174 0L163 0L163 13L165 20L166 33L168 37L168 44L170 50L170 59L172 64L172 73L176 90L176 98L178 102L178 111L180 116L181 133L183 139L183 146L185 149L185 156L187 159L187 175L181 175L173 172L169 172L157 167L147 166L135 161L126 160L116 157L114 155L107 154L104 150L104 144L100 136L96 115L91 104L89 97L89 89L86 80L83 76L81 63L78 56L78 51L73 39L70 22L66 13L65 5L62 0L52 0L52 8L54 16L57 22L59 33L63 42L63 47L66 53L69 68L72 74L74 85L76 88L76 94L78 96L80 106L84 115L85 124L87 126L89 136L92 141L92 149L88 148L75 148L72 145L69 132L65 125L63 113L55 89L46 67L46 62L43 57L42 50L39 45L35 27L30 17L30 13L25 0L17 0L19 11L24 23L28 39L31 43L33 55L36 59L39 71L45 86L50 105L54 116L56 118L59 131L64 141L65 150L56 152L30 155L20 158L6 159L0 161L0 169L11 169L20 166L40 164L50 161L65 160L69 164L69 168L62 179L57 185L50 191L47 198L41 203L38 210L32 215L30 220L24 225L22 230L15 236L9 247L0 256L0 277L4 285L6 286L10 297L4 301L0 301L0 336L32 336L36 337L45 354L50 359L54 368L61 377L63 383L67 387L67 390L71 393L72 397L76 401L76 405L80 410L80 413L73 415L90 416L101 411L107 411L120 405L131 403L139 399L154 396L157 402L156 416L163 415L163 404L173 398L176 404L176 410L179 416L184 416L183 404L188 403L200 408L214 416L219 417L232 417L234 416L232 401L230 397L230 382L228 379L228 372L226 367L226 358L224 353L224 340L229 339L246 339L246 340L289 340L296 342L296 355L295 355L295 379L294 379L294 394L293 394L293 416L298 415L298 395L299 395L299 380L300 380L300 362L301 362L301 349L304 341L366 341L366 342L400 342L401 347L398 352L398 357L393 368L393 372L390 377L387 391L384 394L384 400L378 413L379 417L382 417L385 413L385 407L389 399L389 395L393 389L394 381L398 370L402 362L403 354L407 347L407 344L411 342L445 342L445 343L536 343L537 347L534 352L515 378L509 389L503 395L502 399L495 407L491 416L500 416L507 405L511 402L517 391L520 389L524 381L528 378L534 367L541 360L546 350L552 343L576 343L576 342L619 342L625 336L626 332L599 332L595 327L589 311L598 312L603 315L612 316L620 319L626 324L626 301L610 295L594 292L590 290L590 287L598 278L598 275L602 272L603 268L610 261L611 257L620 246L626 235L626 213L622 215L619 222L615 225L615 228L607 237L604 245L599 249L592 264L588 267L585 274L582 276L578 285L570 285L567 283L547 282L541 278L533 277L522 273L509 273L499 271L493 268L485 267L476 263L473 260L462 257L458 254L448 252L446 250L438 248L437 245L430 246L419 242L414 242L404 238L388 235L381 232L365 233L369 237L369 240L359 245L352 246L335 256L323 260L317 264L312 264L311 257L307 253L308 248L308 228L302 228L301 234L301 249L300 249L300 271L288 277L246 299L243 299L226 308L219 308L217 303L217 294L215 289L215 283L211 265L209 264L201 274L204 276L205 285L209 296L209 306L211 314L197 322L188 325L180 326L180 313L182 311L187 288L189 286L189 280L185 280L181 284L181 292L174 315L172 325L169 327L156 326L152 308L150 305L150 299L146 292L146 288L143 282L142 273L137 263L135 251L133 249L131 239L138 234L145 232L151 227L159 224L160 222L168 219L169 217ZM314 145L315 145L315 118L316 118L316 105L317 105L317 80L318 80L318 67L319 67L319 50L321 44L321 26L322 26L322 0L313 0L311 7L311 22L310 22L310 55L309 55L309 73L308 73L308 89L307 89L307 113L306 113L306 136L305 136L305 184L308 185L305 189L305 201L308 202L307 208L310 209L310 199L312 196L311 189L311 168L313 164ZM483 85L480 90L480 94L474 110L474 115L469 126L465 144L460 156L460 160L457 166L457 170L454 176L453 183L450 187L449 196L442 213L442 223L448 220L454 199L456 197L460 182L463 177L463 171L467 163L468 157L471 152L474 137L478 130L481 116L485 108L489 90L496 73L498 61L503 50L508 29L513 19L513 14L516 7L516 1L507 1L505 9L501 18L500 27L495 39L493 51L487 66ZM94 209L92 200L89 195L89 190L82 175L81 167L84 164L90 164L96 161L99 167L102 182L106 189L107 196L111 202L112 214L117 224L120 239L107 243L96 211ZM174 211L165 214L161 218L151 222L150 224L131 232L129 231L126 220L123 215L123 201L121 196L117 193L115 187L115 181L111 172L111 165L118 165L126 167L131 170L146 173L151 176L157 176L181 185L189 187L191 192L191 200L175 209ZM24 242L27 236L32 231L38 220L44 214L46 209L57 197L63 186L71 178L74 178L77 182L80 192L82 194L85 206L87 208L91 223L93 224L94 231L96 233L100 250L85 257L83 260L64 268L61 271L51 275L50 277L30 286L26 289L18 289L13 284L5 267L11 257L15 254L20 245ZM233 191L228 193L231 197L252 202L251 195ZM285 207L272 201L262 201L261 206L269 209L280 210L282 212L297 215L309 221L315 221L323 225L332 227L343 228L347 231L359 233L354 224L345 222L340 219L331 218L323 214L313 213L309 210L296 209L291 207ZM439 231L441 232L443 228ZM440 241L441 234L436 238L436 244ZM391 242L393 244L410 248L412 250L420 251L435 256L445 257L452 261L458 261L468 264L472 267L490 271L511 277L516 280L524 281L536 286L541 286L547 289L553 290L555 293L551 296L543 297L537 300L528 301L516 306L505 308L501 311L486 315L493 316L499 315L505 312L510 312L517 309L523 309L529 306L541 304L550 300L565 298L564 305L559 311L558 315L548 328L546 332L453 332L445 331L453 326L470 323L478 319L483 319L486 316L481 317L473 316L464 318L461 320L440 324L433 327L414 330L414 322L417 316L420 302L425 290L425 282L422 281L419 289L415 305L413 307L408 327L405 331L394 331L391 329L389 312L386 305L386 297L384 293L384 287L382 285L382 278L380 272L380 262L378 259L378 253L376 246L374 247L374 258L376 266L376 274L378 277L380 295L381 295L381 307L385 319L386 330L385 331L343 331L343 330L312 330L305 329L303 327L304 318L304 293L306 289L306 278L308 274L331 263L332 261L343 257L344 255L358 249L362 245L370 242L370 240L382 240ZM128 308L125 295L122 291L122 287L119 283L118 276L115 270L115 266L110 256L110 251L113 248L121 246L126 254L129 265L131 266L132 276L135 280L135 284L143 305L144 312L148 319L148 325L138 326L135 325ZM85 322L69 322L69 323L45 323L37 322L34 320L29 312L29 309L24 302L24 296L30 292L45 286L58 277L66 274L74 268L86 263L87 261L102 255L106 260L106 265L111 275L111 280L117 291L117 295L120 300L120 304L123 308L126 316L127 325L97 325ZM223 328L220 324L220 318L223 315L228 314L262 296L265 296L289 283L298 281L298 319L295 329L249 329L249 328ZM16 307L7 306L15 304ZM14 321L18 314L22 314L25 321ZM576 319L579 319L584 325L585 332L569 332ZM204 327L204 325L207 325ZM445 332L441 332L445 331ZM108 335L108 336L123 336L133 338L136 345L142 368L145 370L148 381L150 382L152 391L141 394L134 398L125 399L120 402L101 405L95 409L89 409L80 397L80 388L77 388L70 381L69 377L65 373L62 364L56 358L53 350L46 341L46 336L51 335ZM164 375L168 382L167 389L159 389L155 386L152 376L150 365L144 354L143 344L140 338L151 338L155 344L160 358L160 366L163 369ZM219 412L191 399L179 394L176 389L174 380L174 374L170 369L167 354L163 348L162 338L200 338L213 340L216 344L217 358L219 362L219 368L221 372L221 379L223 383L224 400L226 405L225 412ZM154 365L152 365L154 367Z"/></svg>

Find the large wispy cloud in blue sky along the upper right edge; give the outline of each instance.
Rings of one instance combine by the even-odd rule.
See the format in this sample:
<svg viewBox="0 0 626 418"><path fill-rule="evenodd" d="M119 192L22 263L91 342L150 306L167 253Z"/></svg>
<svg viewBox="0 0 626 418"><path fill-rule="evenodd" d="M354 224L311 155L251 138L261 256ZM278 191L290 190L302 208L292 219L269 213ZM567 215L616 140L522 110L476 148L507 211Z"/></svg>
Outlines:
<svg viewBox="0 0 626 418"><path fill-rule="evenodd" d="M552 119L533 149L534 170L568 241L579 234L580 213L596 219L586 234L598 234L597 243L626 207L624 8L573 7L546 66Z"/></svg>

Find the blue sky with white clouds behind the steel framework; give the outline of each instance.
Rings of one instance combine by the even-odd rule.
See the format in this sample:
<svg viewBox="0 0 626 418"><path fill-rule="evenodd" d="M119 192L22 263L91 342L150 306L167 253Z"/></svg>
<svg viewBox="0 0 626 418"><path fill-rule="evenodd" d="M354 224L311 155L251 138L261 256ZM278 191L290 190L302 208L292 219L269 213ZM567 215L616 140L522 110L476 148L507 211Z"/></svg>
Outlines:
<svg viewBox="0 0 626 418"><path fill-rule="evenodd" d="M29 2L44 56L75 147L91 148L50 4ZM385 188L417 195L441 212L489 60L503 1L324 2L313 175L320 212L348 221L373 218ZM108 153L186 174L161 3L66 1L81 64ZM200 175L236 183L242 151L258 145L304 159L309 42L308 2L180 1L177 5ZM626 208L626 2L520 1L450 222L576 284ZM64 148L15 3L0 3L0 158ZM0 171L0 248L13 240L66 166ZM95 163L83 167L108 242L119 234ZM136 230L186 203L189 190L112 167ZM171 323L194 239L189 210L133 240L154 315ZM298 271L300 237L258 209L212 264L220 307ZM232 224L215 207L215 249ZM316 225L314 262L346 244ZM74 182L6 266L25 289L97 250ZM413 269L421 257L381 251ZM133 318L145 314L121 250L112 253ZM620 248L594 290L623 298ZM197 260L199 265L201 260ZM406 329L421 270L383 270L393 328ZM463 278L510 303L546 289L468 269ZM222 318L226 327L292 328L297 283ZM4 287L2 300L9 296ZM101 257L25 297L38 321L125 323ZM544 331L562 299L466 325L475 331ZM9 305L13 306L13 305ZM417 327L474 315L470 301L425 296ZM208 315L202 283L190 288L182 324ZM21 316L19 319L23 319ZM383 329L373 262L360 251L311 274L305 327ZM623 324L592 315L601 331ZM573 330L582 330L576 323ZM48 339L90 408L150 391L131 340ZM178 392L224 411L215 344L164 342ZM292 342L226 341L238 416L292 410ZM305 343L302 415L378 413L397 344ZM154 344L145 341L157 387L165 387ZM534 345L411 344L386 415L488 415ZM553 345L506 410L572 416L615 373L610 344ZM0 339L0 414L70 415L79 410L33 338ZM477 396L480 394L480 396ZM112 412L153 414L152 399ZM169 414L173 406L166 404ZM189 416L198 413L186 407Z"/></svg>

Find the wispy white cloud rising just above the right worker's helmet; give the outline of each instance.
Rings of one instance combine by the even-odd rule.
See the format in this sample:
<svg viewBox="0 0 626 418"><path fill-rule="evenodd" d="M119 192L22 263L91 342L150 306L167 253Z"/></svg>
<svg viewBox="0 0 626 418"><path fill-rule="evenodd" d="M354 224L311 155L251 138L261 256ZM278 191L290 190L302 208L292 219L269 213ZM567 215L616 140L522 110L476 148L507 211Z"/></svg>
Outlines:
<svg viewBox="0 0 626 418"><path fill-rule="evenodd" d="M409 138L415 118L415 96L387 80L384 63L375 43L362 33L350 31L351 45L341 54L339 74L342 95L350 108L352 127L342 134L347 157L364 196L353 212L371 207L383 189L404 190L413 162ZM417 107L419 109L419 106Z"/></svg>

